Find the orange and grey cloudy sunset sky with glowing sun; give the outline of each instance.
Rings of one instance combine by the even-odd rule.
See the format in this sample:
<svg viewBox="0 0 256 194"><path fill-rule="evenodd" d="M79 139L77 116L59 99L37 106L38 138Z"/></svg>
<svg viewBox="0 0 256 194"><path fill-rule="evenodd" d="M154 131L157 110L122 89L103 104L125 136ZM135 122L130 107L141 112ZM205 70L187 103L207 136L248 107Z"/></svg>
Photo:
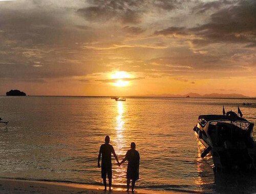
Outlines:
<svg viewBox="0 0 256 194"><path fill-rule="evenodd" d="M256 1L0 1L0 95L256 96Z"/></svg>

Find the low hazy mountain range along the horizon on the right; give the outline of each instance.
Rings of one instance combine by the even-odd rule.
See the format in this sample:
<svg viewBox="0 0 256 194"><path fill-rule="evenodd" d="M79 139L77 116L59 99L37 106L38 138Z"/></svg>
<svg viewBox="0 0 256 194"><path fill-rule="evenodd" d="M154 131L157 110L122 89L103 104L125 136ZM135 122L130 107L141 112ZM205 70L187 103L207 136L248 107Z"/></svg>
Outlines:
<svg viewBox="0 0 256 194"><path fill-rule="evenodd" d="M200 95L198 93L187 93L185 95L181 94L150 94L150 95L138 95L138 96L152 96L152 97L173 97L173 98L186 98L189 96L190 98L226 98L226 99L249 99L249 96L245 96L243 94L239 93L210 93L210 94L204 94Z"/></svg>

